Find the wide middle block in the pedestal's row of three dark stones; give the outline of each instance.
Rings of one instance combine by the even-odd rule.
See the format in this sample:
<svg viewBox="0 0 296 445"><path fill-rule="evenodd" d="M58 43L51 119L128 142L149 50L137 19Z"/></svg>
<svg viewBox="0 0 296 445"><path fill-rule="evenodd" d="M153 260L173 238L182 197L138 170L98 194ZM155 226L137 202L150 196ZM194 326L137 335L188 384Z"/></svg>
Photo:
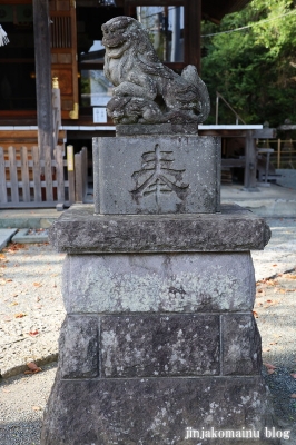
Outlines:
<svg viewBox="0 0 296 445"><path fill-rule="evenodd" d="M102 377L219 375L218 315L105 316Z"/></svg>

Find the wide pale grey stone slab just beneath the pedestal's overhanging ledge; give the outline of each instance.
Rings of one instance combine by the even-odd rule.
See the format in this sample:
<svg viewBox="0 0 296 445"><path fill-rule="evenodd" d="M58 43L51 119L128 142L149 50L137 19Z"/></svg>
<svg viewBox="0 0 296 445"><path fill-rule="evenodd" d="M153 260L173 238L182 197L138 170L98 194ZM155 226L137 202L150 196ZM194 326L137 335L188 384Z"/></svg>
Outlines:
<svg viewBox="0 0 296 445"><path fill-rule="evenodd" d="M250 312L249 253L70 255L63 266L68 313Z"/></svg>

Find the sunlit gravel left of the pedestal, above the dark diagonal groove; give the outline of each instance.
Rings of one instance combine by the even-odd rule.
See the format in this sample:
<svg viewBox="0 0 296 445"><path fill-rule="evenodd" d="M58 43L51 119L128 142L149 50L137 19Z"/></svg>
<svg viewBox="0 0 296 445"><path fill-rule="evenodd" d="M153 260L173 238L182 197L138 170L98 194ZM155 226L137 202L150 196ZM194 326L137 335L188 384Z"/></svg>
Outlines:
<svg viewBox="0 0 296 445"><path fill-rule="evenodd" d="M65 254L47 244L10 244L0 253L0 369L2 377L26 363L57 359L65 317L60 291Z"/></svg>

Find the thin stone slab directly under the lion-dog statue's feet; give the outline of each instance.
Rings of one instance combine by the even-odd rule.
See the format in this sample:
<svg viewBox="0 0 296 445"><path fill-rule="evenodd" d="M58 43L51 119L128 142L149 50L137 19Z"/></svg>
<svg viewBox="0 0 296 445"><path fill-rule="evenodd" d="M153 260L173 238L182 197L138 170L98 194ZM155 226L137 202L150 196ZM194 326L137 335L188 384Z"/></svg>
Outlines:
<svg viewBox="0 0 296 445"><path fill-rule="evenodd" d="M197 135L198 123L117 125L116 136Z"/></svg>

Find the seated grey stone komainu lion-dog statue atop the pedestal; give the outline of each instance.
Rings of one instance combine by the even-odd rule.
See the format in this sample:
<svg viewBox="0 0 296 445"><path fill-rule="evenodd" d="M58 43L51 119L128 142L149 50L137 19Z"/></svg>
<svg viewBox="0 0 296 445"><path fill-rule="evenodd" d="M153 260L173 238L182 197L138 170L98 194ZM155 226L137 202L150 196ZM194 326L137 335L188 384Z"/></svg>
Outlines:
<svg viewBox="0 0 296 445"><path fill-rule="evenodd" d="M116 123L200 123L209 115L206 85L194 66L181 76L164 66L141 23L116 17L102 26L105 76L114 88L107 112Z"/></svg>

